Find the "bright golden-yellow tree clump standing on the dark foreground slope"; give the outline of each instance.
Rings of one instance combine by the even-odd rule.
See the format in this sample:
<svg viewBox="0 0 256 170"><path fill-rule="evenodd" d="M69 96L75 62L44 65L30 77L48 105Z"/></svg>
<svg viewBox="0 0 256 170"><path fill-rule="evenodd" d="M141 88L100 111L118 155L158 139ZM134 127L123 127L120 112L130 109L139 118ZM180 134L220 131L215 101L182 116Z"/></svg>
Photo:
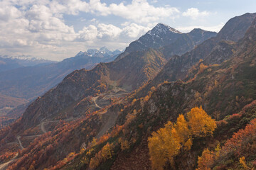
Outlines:
<svg viewBox="0 0 256 170"><path fill-rule="evenodd" d="M178 115L176 124L170 121L164 128L153 132L149 137L149 155L153 169L164 169L166 162L173 164L174 157L183 150L190 150L194 137L212 135L216 128L215 120L203 108L192 108L184 115Z"/></svg>

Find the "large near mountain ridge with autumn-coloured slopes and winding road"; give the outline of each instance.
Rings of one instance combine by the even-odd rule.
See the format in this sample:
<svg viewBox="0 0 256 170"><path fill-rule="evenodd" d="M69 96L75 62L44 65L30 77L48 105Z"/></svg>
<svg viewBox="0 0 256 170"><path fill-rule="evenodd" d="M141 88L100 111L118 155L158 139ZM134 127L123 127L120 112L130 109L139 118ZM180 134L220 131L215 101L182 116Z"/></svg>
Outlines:
<svg viewBox="0 0 256 170"><path fill-rule="evenodd" d="M202 106L215 132L193 137L164 169L253 167L256 132L241 130L256 115L255 17L231 18L217 35L159 23L114 61L71 72L0 131L3 162L9 169L151 169L148 137ZM74 58L94 54L105 58L93 50ZM239 150L226 149L232 142Z"/></svg>

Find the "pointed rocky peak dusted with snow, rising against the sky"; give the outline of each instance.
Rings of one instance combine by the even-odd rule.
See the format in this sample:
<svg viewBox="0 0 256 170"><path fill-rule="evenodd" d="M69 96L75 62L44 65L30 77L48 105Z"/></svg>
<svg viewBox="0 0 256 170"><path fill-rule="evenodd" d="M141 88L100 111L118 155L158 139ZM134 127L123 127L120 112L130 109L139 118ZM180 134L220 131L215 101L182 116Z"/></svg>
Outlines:
<svg viewBox="0 0 256 170"><path fill-rule="evenodd" d="M182 55L208 38L217 33L201 29L194 29L190 33L181 33L164 23L157 24L138 40L131 42L129 46L117 57L117 60L129 54L129 52L146 50L149 48L159 49L168 46L164 55Z"/></svg>

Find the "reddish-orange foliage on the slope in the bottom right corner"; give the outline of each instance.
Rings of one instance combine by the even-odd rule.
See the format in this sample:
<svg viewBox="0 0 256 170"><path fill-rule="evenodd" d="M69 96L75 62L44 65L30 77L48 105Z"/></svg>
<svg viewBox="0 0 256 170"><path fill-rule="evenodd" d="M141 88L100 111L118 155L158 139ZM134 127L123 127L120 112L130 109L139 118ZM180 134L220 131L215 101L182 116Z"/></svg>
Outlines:
<svg viewBox="0 0 256 170"><path fill-rule="evenodd" d="M238 115L235 115L238 116ZM237 160L244 169L251 169L251 163L245 162L245 155L255 153L256 141L256 118L245 129L236 132L230 140L220 149L216 147L214 152L205 149L201 157L198 157L198 170L210 169L220 159Z"/></svg>

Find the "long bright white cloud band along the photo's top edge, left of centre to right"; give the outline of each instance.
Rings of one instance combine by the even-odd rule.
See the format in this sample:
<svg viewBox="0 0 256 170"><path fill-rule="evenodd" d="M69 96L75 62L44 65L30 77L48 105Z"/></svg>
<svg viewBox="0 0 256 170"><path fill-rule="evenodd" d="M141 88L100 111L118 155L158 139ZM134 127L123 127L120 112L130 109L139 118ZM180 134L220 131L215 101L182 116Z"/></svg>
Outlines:
<svg viewBox="0 0 256 170"><path fill-rule="evenodd" d="M78 13L92 13L100 16L119 16L136 23L148 23L157 21L161 18L176 18L178 8L164 6L155 7L150 5L146 0L132 0L131 4L107 4L100 0L90 0L89 2L80 0L53 0L50 1L50 10L53 13L68 13L78 15Z"/></svg>

